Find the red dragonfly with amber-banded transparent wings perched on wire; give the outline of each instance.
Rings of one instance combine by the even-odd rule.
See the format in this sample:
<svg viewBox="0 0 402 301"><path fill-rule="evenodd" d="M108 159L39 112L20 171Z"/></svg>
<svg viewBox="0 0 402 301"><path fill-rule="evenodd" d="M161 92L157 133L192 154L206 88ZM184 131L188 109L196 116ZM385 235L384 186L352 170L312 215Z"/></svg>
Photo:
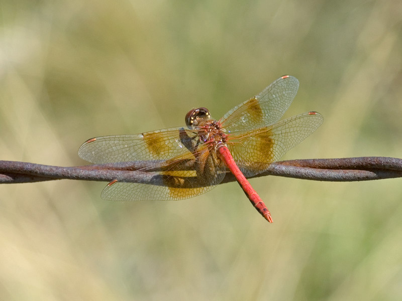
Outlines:
<svg viewBox="0 0 402 301"><path fill-rule="evenodd" d="M298 80L284 75L219 120L206 108L192 109L185 116L187 128L91 138L81 145L78 156L95 164L124 163L127 170L135 162L149 163L130 174L150 180L133 183L127 176L106 186L102 198L115 201L195 197L221 183L229 170L257 211L272 223L246 177L266 171L323 122L317 112L279 121L297 89Z"/></svg>

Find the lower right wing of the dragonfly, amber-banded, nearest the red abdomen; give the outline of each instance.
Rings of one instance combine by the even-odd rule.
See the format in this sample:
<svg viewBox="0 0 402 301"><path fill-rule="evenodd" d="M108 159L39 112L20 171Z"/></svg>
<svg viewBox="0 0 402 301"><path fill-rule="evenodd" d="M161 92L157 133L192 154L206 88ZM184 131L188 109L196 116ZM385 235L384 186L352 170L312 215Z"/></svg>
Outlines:
<svg viewBox="0 0 402 301"><path fill-rule="evenodd" d="M262 173L290 148L302 142L323 122L317 112L307 112L262 128L229 135L228 148L245 175Z"/></svg>

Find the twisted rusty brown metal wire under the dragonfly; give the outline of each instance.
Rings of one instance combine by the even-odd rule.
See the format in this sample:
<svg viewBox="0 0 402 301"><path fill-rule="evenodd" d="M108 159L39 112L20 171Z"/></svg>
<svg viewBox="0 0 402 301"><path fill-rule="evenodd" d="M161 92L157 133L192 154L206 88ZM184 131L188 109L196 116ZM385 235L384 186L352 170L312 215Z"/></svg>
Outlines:
<svg viewBox="0 0 402 301"><path fill-rule="evenodd" d="M87 165L58 167L26 162L0 161L0 184L31 183L51 180L106 181L125 179L128 182L153 184L156 171L135 173L133 171L154 165L155 162ZM388 157L358 157L340 159L289 160L271 164L262 176L280 176L296 179L351 182L402 177L402 159ZM227 173L222 183L236 181Z"/></svg>

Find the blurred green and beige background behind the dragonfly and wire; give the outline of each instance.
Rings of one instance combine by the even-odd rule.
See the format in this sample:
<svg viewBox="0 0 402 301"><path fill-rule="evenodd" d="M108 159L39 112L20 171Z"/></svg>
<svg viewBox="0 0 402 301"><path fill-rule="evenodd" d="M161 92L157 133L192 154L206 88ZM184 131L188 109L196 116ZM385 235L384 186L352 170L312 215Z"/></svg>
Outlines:
<svg viewBox="0 0 402 301"><path fill-rule="evenodd" d="M0 2L0 159L85 164L86 139L220 118L283 74L285 117L323 125L283 159L402 157L402 2ZM400 300L400 179L236 183L108 202L106 183L0 187L3 300Z"/></svg>

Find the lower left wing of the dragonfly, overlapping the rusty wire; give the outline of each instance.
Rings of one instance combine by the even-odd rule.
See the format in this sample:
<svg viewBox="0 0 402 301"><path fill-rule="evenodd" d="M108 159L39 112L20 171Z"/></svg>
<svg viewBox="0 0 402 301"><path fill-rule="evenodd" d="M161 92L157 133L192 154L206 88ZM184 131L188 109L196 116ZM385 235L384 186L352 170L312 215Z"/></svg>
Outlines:
<svg viewBox="0 0 402 301"><path fill-rule="evenodd" d="M194 163L191 169L189 162ZM154 166L133 171L117 182L112 181L101 197L112 201L188 199L210 191L226 174L217 154L210 153L204 145L197 152L187 152L160 164L158 169L154 171Z"/></svg>

